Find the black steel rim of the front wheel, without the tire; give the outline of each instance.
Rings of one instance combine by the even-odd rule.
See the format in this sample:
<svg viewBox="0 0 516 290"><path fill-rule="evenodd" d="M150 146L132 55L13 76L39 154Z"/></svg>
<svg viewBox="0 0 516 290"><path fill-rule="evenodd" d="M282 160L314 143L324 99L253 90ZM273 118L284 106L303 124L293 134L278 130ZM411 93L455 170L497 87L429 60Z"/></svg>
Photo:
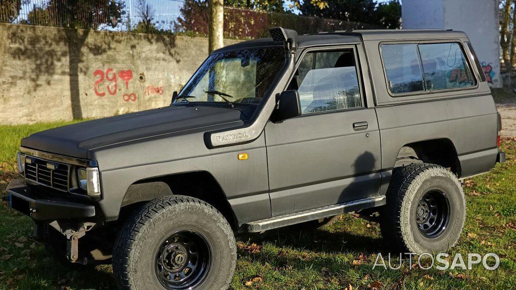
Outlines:
<svg viewBox="0 0 516 290"><path fill-rule="evenodd" d="M211 262L211 248L202 234L178 231L166 238L157 250L156 276L169 290L194 289L206 278Z"/></svg>

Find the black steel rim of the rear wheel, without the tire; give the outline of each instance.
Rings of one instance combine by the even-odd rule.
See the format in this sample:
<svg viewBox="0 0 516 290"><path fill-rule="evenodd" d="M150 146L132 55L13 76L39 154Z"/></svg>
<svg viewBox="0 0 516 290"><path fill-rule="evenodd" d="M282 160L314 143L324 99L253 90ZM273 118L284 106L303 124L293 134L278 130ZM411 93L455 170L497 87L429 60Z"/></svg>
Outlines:
<svg viewBox="0 0 516 290"><path fill-rule="evenodd" d="M434 238L444 232L450 218L448 197L432 190L423 195L415 211L416 224L423 236Z"/></svg>

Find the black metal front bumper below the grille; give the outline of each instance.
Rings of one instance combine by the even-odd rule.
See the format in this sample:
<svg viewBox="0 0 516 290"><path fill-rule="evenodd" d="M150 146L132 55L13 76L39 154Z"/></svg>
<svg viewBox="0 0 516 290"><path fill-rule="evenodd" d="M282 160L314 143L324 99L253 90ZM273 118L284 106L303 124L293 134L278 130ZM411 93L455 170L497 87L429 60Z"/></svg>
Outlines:
<svg viewBox="0 0 516 290"><path fill-rule="evenodd" d="M7 186L9 207L35 220L75 219L95 216L91 204L70 202L65 198L49 197L31 190L25 182L13 179Z"/></svg>

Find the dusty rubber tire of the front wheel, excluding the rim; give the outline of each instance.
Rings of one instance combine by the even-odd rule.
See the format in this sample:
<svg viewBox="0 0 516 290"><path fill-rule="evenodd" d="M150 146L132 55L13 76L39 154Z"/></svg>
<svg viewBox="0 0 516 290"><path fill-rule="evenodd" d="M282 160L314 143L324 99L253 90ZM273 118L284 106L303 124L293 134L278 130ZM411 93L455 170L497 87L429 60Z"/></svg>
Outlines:
<svg viewBox="0 0 516 290"><path fill-rule="evenodd" d="M211 247L211 267L195 289L227 289L236 266L236 242L228 221L210 204L187 196L154 199L127 219L113 252L113 272L121 290L166 289L155 272L155 257L169 233L193 230Z"/></svg>

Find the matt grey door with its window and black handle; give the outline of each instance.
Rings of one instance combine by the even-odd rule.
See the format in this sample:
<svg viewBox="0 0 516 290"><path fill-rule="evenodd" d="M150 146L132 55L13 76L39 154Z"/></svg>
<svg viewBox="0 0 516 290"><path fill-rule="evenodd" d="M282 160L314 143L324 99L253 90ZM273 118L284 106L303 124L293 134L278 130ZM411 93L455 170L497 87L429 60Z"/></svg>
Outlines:
<svg viewBox="0 0 516 290"><path fill-rule="evenodd" d="M378 122L359 76L354 46L299 62L291 89L302 115L265 127L272 216L378 195Z"/></svg>

